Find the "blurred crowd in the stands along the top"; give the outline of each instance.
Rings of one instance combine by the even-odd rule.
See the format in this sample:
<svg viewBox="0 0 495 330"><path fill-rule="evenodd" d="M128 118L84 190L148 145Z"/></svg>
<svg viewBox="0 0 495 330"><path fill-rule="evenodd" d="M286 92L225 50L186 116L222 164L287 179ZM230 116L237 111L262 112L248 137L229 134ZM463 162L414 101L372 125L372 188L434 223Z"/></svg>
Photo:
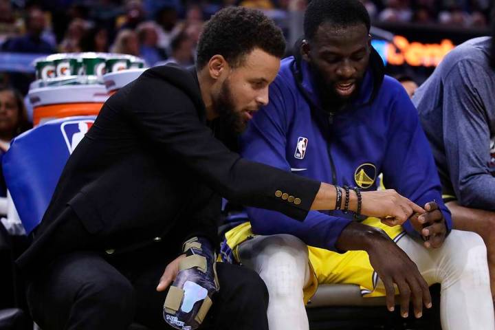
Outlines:
<svg viewBox="0 0 495 330"><path fill-rule="evenodd" d="M484 28L490 0L362 0L375 23L400 22ZM204 21L227 5L259 8L300 36L307 0L0 0L0 50L116 52L149 66L194 62Z"/></svg>

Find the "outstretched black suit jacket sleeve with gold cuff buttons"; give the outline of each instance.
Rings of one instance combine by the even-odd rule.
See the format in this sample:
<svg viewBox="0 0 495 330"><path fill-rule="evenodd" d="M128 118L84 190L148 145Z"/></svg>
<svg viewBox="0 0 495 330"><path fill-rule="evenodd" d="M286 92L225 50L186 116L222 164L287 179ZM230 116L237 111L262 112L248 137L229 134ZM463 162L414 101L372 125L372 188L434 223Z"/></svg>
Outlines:
<svg viewBox="0 0 495 330"><path fill-rule="evenodd" d="M320 182L250 162L230 152L201 123L190 96L156 71L142 74L126 94L124 115L157 153L177 159L225 199L305 219ZM297 197L297 202L282 199L281 193Z"/></svg>

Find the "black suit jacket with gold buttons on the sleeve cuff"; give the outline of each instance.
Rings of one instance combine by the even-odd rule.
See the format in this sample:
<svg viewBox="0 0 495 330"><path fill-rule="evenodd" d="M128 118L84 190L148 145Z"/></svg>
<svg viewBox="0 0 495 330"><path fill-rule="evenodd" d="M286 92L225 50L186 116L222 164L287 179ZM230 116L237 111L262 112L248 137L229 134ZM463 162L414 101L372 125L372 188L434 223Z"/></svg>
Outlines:
<svg viewBox="0 0 495 330"><path fill-rule="evenodd" d="M221 197L303 220L319 187L229 151L206 126L195 73L154 67L105 102L69 157L34 243L18 264L26 267L47 254L54 235L71 239L58 229L67 207L104 249L171 232L214 241Z"/></svg>

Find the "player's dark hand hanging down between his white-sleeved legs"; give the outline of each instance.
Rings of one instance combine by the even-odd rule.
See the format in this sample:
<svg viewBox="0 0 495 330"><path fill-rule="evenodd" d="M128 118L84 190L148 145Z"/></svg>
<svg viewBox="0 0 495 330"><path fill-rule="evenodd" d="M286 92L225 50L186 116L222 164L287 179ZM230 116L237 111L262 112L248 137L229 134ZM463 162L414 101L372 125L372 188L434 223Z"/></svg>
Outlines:
<svg viewBox="0 0 495 330"><path fill-rule="evenodd" d="M399 288L401 316L408 317L409 302L412 300L415 317L423 315L423 305L432 306L428 284L408 255L384 234L368 250L370 263L382 279L386 290L386 305L389 311L395 306L395 287Z"/></svg>

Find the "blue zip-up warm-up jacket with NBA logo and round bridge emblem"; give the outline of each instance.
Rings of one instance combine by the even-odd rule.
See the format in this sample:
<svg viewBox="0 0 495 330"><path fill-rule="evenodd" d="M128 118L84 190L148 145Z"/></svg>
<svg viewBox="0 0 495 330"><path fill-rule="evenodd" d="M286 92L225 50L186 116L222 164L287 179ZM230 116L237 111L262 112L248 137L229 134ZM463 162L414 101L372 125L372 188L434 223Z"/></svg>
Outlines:
<svg viewBox="0 0 495 330"><path fill-rule="evenodd" d="M270 85L270 103L250 121L241 136L241 154L298 175L375 190L377 176L419 206L437 201L452 228L450 212L430 145L417 111L397 80L384 76L373 51L360 94L339 113L320 107L309 66L294 57L282 61ZM263 180L263 177L260 178ZM293 234L308 245L336 250L340 232L352 219L341 211L310 211L304 221L248 208L255 234ZM417 235L409 221L409 234Z"/></svg>

